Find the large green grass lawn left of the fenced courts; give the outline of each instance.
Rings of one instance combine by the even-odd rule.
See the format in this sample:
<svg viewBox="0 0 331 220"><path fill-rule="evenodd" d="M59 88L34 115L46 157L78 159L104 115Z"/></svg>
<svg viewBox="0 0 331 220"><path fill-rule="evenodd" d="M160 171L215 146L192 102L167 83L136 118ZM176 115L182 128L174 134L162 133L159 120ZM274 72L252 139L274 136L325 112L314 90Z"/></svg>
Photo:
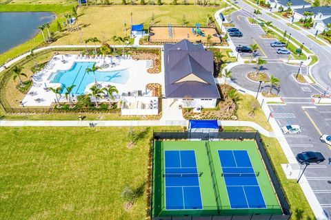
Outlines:
<svg viewBox="0 0 331 220"><path fill-rule="evenodd" d="M128 131L1 127L0 219L145 219L152 129L131 149ZM142 189L128 211L125 186Z"/></svg>

